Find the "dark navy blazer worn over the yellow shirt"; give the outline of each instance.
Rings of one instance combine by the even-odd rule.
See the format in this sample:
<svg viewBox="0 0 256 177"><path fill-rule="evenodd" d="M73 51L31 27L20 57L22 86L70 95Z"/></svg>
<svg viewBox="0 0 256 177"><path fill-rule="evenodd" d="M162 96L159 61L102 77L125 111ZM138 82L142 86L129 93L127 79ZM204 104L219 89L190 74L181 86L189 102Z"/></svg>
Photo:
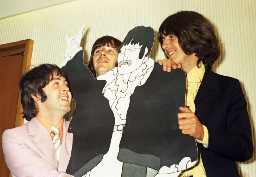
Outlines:
<svg viewBox="0 0 256 177"><path fill-rule="evenodd" d="M251 125L239 80L206 69L195 106L195 114L209 131L208 148L198 143L207 177L239 176L235 161L253 155Z"/></svg>

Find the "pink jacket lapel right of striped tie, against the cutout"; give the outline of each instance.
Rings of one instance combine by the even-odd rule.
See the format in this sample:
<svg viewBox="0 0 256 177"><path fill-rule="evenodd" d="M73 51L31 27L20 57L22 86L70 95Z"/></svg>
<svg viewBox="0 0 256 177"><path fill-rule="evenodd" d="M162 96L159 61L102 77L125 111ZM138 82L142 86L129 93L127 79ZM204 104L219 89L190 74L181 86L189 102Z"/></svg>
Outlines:
<svg viewBox="0 0 256 177"><path fill-rule="evenodd" d="M58 171L66 171L69 164L72 142L73 142L73 133L67 132L69 128L69 121L63 122L63 137L61 143L61 156L59 159Z"/></svg>

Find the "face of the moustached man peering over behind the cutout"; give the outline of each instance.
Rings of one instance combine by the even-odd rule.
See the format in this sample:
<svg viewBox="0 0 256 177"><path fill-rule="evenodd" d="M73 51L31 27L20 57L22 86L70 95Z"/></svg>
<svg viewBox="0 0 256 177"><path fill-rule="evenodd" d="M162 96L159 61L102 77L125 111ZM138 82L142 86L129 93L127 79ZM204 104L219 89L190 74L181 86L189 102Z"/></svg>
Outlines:
<svg viewBox="0 0 256 177"><path fill-rule="evenodd" d="M93 66L96 77L105 74L116 67L118 52L110 44L95 49L93 54Z"/></svg>

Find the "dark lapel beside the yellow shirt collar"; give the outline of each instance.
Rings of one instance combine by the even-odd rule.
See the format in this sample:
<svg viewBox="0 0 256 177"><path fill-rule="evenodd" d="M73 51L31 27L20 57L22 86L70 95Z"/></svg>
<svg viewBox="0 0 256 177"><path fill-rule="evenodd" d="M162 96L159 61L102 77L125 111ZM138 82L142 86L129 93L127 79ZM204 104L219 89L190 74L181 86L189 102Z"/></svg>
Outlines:
<svg viewBox="0 0 256 177"><path fill-rule="evenodd" d="M195 104L197 104L205 97L207 97L212 90L220 90L219 81L216 77L216 74L213 71L205 69L205 74L203 75L202 83L200 84L200 87L194 100Z"/></svg>

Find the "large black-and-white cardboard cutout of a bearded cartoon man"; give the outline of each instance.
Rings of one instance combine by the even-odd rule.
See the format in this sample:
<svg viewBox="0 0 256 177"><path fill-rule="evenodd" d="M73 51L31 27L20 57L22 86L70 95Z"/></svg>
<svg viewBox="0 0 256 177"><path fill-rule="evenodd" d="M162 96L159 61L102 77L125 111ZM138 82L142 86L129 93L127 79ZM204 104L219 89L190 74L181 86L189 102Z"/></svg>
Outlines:
<svg viewBox="0 0 256 177"><path fill-rule="evenodd" d="M80 43L81 38L74 38ZM179 68L163 72L155 65L147 57L153 41L151 27L130 30L119 48L118 67L97 80L83 65L82 48L69 47L67 56L74 57L62 66L77 113L69 127L73 148L67 172L87 177L178 176L196 163L195 139L183 135L177 121L179 107L185 106L186 74Z"/></svg>

